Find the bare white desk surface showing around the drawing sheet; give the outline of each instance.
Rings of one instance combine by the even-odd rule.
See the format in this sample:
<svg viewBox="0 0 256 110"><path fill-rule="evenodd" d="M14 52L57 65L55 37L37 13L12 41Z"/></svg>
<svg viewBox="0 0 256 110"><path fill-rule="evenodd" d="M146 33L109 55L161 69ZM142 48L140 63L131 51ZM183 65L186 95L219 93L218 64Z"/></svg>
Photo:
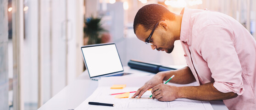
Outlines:
<svg viewBox="0 0 256 110"><path fill-rule="evenodd" d="M147 73L124 67L124 70L132 73ZM43 104L38 110L69 110L75 109L87 99L98 87L98 81L90 80L88 72L85 71L74 82L67 85L54 97ZM223 101L211 101L214 110L228 110Z"/></svg>

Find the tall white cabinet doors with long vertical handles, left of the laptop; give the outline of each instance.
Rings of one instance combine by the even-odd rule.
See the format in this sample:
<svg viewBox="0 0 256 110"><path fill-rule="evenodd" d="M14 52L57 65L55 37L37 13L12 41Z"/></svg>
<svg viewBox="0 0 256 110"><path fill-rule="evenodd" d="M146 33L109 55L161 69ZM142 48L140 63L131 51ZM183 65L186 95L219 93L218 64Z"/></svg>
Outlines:
<svg viewBox="0 0 256 110"><path fill-rule="evenodd" d="M83 38L83 0L41 0L42 36L42 79L43 101L46 102L77 77L77 49L82 46ZM79 1L79 2L78 2ZM27 0L25 4L25 38L23 87L25 104L38 101L38 0ZM80 8L78 8L80 7ZM79 19L77 17L80 17ZM77 21L80 20L80 21ZM79 24L78 24L79 23ZM79 25L80 28L77 28ZM67 26L67 28L66 28ZM67 38L66 38L67 37ZM67 41L67 45L66 45ZM67 59L66 59L67 57ZM67 63L67 65L66 65ZM79 71L81 73L82 70Z"/></svg>

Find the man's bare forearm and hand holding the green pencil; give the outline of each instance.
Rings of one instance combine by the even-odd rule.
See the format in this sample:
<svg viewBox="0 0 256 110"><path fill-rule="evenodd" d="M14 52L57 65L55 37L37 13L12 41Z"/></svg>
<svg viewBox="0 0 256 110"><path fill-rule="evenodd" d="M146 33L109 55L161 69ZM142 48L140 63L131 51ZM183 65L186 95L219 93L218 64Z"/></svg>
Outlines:
<svg viewBox="0 0 256 110"><path fill-rule="evenodd" d="M231 99L238 95L233 92L222 93L213 87L213 82L200 86L176 87L167 84L159 84L152 88L151 93L154 99L159 101L173 101L178 98L186 98L201 101L212 101L221 99Z"/></svg>

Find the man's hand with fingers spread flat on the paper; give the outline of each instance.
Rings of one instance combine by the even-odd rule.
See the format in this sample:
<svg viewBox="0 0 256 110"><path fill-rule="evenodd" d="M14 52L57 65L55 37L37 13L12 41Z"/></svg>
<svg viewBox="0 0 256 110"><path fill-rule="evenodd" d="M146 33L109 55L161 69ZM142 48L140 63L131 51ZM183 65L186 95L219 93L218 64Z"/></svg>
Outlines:
<svg viewBox="0 0 256 110"><path fill-rule="evenodd" d="M158 72L154 77L152 77L149 81L147 81L141 88L139 88L136 93L132 96L135 98L138 96L140 98L148 89L157 86L158 84L163 83L164 72Z"/></svg>

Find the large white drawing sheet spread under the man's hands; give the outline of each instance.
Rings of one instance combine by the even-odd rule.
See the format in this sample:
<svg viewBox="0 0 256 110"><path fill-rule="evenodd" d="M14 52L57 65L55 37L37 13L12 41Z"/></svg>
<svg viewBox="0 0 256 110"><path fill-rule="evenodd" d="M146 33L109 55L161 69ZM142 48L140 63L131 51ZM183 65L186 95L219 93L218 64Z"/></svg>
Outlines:
<svg viewBox="0 0 256 110"><path fill-rule="evenodd" d="M151 95L151 91L143 94L144 99L130 99L134 93L130 93L129 98L115 99L115 95L111 93L122 93L136 91L152 76L144 77L106 77L99 81L99 87L95 92L83 101L75 110L213 110L209 102L196 101L190 99L176 99L171 102L161 102L157 99L147 99ZM142 78L142 79L141 79ZM136 83L138 80L143 80ZM115 83L120 82L120 83ZM127 84L124 89L110 89L112 84ZM139 85L139 86L136 86ZM181 86L178 84L171 84ZM195 86L196 83L191 83L185 86ZM184 85L182 85L184 86ZM114 104L114 107L89 105L88 102L100 102Z"/></svg>

